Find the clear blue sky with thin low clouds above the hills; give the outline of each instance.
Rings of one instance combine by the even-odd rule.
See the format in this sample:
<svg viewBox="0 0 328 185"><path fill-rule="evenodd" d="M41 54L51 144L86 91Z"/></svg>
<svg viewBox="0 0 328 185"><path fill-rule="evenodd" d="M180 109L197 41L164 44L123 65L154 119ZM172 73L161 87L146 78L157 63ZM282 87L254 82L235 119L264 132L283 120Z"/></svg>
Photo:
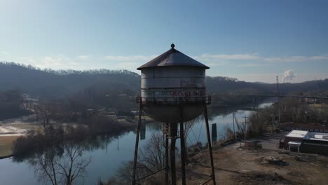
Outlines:
<svg viewBox="0 0 328 185"><path fill-rule="evenodd" d="M327 10L328 1L0 0L0 61L139 73L175 43L209 76L322 79Z"/></svg>

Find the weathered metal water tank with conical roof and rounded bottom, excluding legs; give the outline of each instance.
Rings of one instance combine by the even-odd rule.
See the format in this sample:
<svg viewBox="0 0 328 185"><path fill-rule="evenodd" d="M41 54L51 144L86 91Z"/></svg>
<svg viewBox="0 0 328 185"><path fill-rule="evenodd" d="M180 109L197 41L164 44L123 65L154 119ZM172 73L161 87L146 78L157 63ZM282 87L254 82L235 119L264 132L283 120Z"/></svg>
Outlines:
<svg viewBox="0 0 328 185"><path fill-rule="evenodd" d="M146 114L156 121L179 123L180 110L184 121L190 121L210 103L205 87L205 69L210 67L179 52L174 44L137 69L142 73L139 101Z"/></svg>

